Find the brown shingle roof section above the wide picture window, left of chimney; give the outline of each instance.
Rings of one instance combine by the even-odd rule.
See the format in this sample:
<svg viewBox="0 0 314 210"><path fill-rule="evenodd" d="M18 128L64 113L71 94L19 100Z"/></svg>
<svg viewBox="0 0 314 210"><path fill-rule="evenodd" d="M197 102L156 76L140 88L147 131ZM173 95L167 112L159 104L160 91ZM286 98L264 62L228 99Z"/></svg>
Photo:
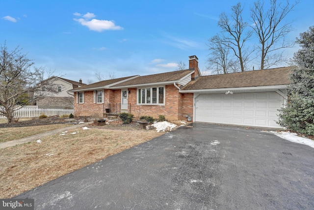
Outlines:
<svg viewBox="0 0 314 210"><path fill-rule="evenodd" d="M120 86L132 86L132 85L141 85L141 84L150 84L150 83L160 83L160 82L171 82L178 81L187 74L191 73L193 69L186 69L180 71L171 71L160 74L151 74L147 76L140 76L135 79L126 81L124 83L120 83L118 85L112 87L120 87Z"/></svg>

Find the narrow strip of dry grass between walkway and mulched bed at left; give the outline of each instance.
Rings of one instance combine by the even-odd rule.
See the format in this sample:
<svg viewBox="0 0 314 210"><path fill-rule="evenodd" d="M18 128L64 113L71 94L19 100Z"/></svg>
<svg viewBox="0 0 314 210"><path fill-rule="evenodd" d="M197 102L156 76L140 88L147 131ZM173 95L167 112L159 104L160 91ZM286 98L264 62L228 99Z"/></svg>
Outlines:
<svg viewBox="0 0 314 210"><path fill-rule="evenodd" d="M66 127L72 124L52 124L52 125L38 125L27 127L5 127L0 128L0 143L15 139L21 139L26 136L31 136L46 131L54 130L61 127Z"/></svg>

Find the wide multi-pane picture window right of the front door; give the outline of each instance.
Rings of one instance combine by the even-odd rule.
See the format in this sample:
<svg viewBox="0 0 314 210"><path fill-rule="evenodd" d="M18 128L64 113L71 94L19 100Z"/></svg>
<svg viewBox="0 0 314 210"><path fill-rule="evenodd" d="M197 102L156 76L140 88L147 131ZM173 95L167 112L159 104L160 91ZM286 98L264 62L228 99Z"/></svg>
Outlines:
<svg viewBox="0 0 314 210"><path fill-rule="evenodd" d="M137 90L138 104L164 104L164 87L141 88Z"/></svg>

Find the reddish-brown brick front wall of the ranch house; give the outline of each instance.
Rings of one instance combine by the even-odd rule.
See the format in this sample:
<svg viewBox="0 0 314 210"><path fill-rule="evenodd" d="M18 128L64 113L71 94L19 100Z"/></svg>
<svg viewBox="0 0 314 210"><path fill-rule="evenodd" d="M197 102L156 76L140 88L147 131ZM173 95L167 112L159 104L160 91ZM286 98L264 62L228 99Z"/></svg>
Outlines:
<svg viewBox="0 0 314 210"><path fill-rule="evenodd" d="M165 105L137 105L136 88L128 89L128 103L131 104L131 114L135 118L140 116L151 116L158 119L159 115L164 115L167 120L187 120L185 116L190 114L193 120L193 93L179 93L174 85L165 87ZM130 93L129 93L130 92ZM101 118L104 112L103 104L94 103L93 91L84 93L84 103L74 101L74 111L76 116L93 116ZM76 93L75 93L76 98ZM105 104L121 103L121 90L105 90Z"/></svg>

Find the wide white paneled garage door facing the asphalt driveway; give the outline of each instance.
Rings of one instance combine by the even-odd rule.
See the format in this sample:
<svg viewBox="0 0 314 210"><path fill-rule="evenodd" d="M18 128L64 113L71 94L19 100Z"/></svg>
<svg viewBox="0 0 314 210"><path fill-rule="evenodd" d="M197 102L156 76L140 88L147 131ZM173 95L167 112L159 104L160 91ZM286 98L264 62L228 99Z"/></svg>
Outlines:
<svg viewBox="0 0 314 210"><path fill-rule="evenodd" d="M276 92L200 94L195 121L280 128L275 120L283 103Z"/></svg>

